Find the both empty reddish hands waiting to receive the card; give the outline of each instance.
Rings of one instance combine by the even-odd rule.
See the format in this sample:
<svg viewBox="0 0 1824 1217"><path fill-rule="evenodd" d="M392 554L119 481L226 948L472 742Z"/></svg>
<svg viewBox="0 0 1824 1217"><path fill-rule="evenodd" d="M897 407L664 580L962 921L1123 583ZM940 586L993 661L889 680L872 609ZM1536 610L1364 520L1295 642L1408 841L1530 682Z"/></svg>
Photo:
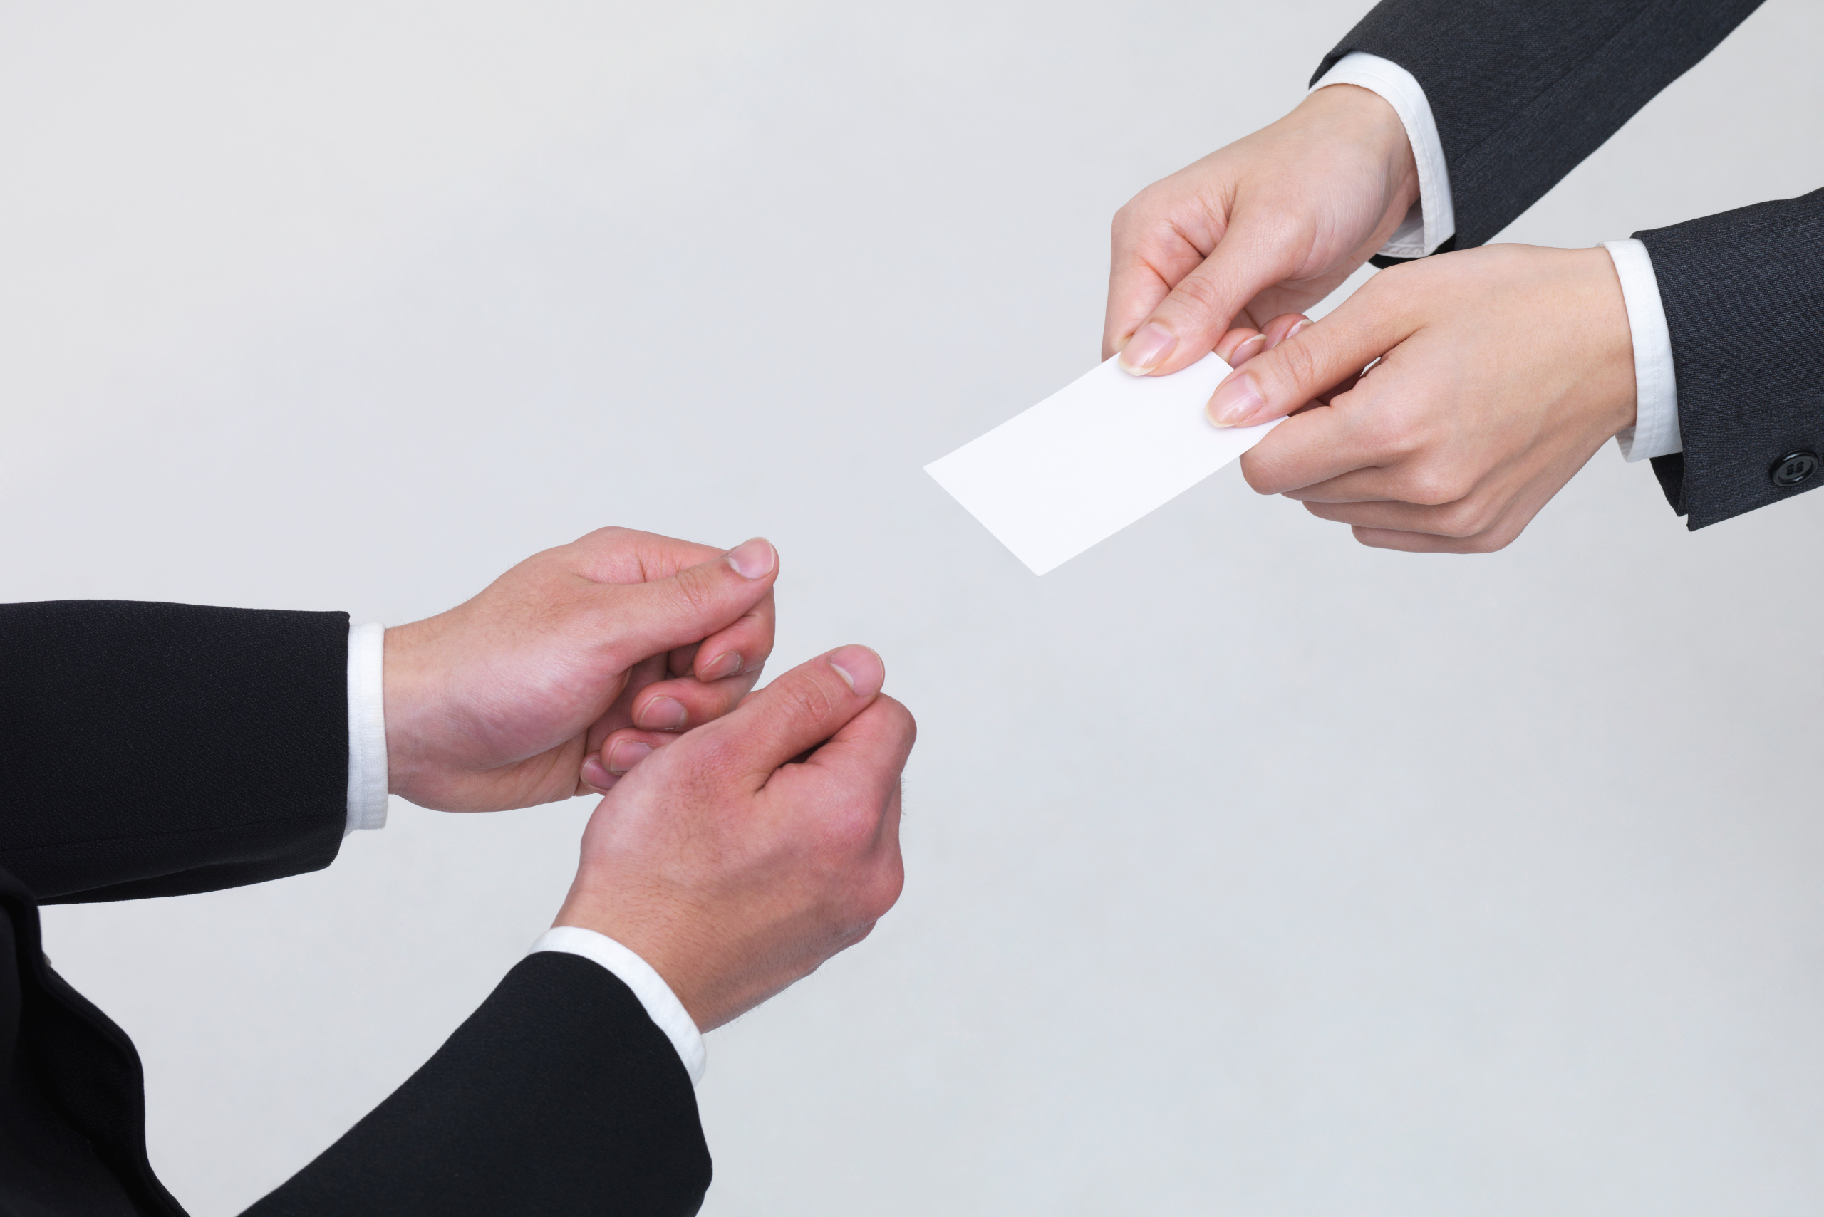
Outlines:
<svg viewBox="0 0 1824 1217"><path fill-rule="evenodd" d="M602 528L387 630L392 793L502 811L607 787L556 924L638 953L700 1029L865 938L903 884L912 716L866 647L753 692L777 574L762 537ZM669 747L624 780L602 752L627 738Z"/></svg>

